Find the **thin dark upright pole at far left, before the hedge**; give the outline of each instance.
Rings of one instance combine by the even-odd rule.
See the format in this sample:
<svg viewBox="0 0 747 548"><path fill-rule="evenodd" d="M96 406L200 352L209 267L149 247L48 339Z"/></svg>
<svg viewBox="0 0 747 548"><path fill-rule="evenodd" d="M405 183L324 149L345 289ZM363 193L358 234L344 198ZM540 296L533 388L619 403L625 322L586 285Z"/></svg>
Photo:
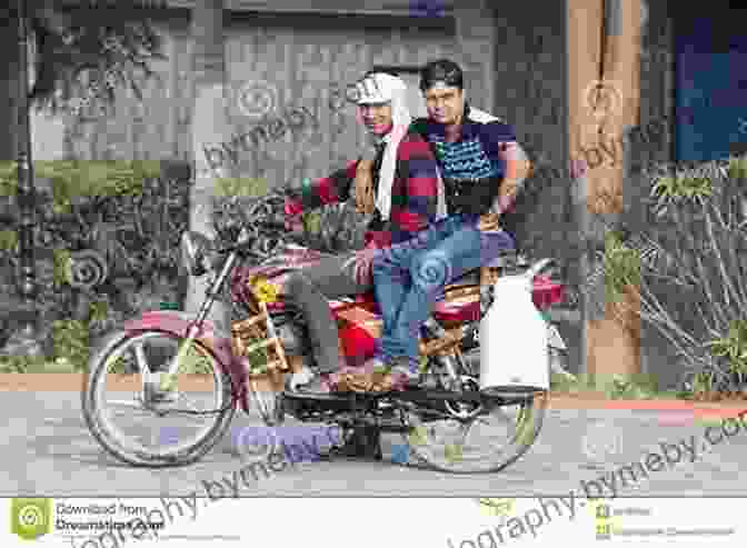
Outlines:
<svg viewBox="0 0 747 548"><path fill-rule="evenodd" d="M20 222L18 228L20 271L18 292L22 299L22 318L20 331L14 333L12 342L18 345L23 356L41 355L41 346L37 337L38 311L33 301L38 287L34 268L36 191L33 181L33 163L31 158L31 126L29 121L29 66L28 66L28 30L26 0L18 0L18 208Z"/></svg>

